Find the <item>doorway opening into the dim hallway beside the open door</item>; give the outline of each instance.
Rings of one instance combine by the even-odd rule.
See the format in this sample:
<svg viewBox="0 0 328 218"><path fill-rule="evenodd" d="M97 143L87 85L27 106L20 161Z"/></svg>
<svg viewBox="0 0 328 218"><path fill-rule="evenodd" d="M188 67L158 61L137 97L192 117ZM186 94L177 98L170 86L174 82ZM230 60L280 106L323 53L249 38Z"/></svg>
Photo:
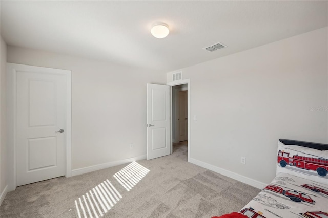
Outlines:
<svg viewBox="0 0 328 218"><path fill-rule="evenodd" d="M188 154L188 84L172 86L172 152Z"/></svg>

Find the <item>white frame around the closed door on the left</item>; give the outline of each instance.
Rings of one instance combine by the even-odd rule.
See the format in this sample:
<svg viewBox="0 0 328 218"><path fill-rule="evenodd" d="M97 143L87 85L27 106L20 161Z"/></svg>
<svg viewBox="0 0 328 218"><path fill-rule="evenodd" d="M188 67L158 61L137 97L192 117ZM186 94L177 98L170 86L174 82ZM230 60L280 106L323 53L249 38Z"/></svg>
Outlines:
<svg viewBox="0 0 328 218"><path fill-rule="evenodd" d="M72 71L61 70L25 64L7 63L7 131L8 131L8 191L16 189L16 114L17 114L17 71L16 68L24 67L33 72L43 74L56 74L66 76L66 177L72 176Z"/></svg>

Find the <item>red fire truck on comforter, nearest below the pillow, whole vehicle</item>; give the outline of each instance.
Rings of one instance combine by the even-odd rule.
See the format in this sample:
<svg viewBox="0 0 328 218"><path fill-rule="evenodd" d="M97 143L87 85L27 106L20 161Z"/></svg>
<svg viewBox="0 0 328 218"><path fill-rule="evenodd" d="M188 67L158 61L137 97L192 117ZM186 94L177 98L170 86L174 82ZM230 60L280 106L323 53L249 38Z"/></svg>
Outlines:
<svg viewBox="0 0 328 218"><path fill-rule="evenodd" d="M276 186L276 185L268 185L267 187L264 188L265 190L270 190L270 191L274 191L276 193L282 194L285 197L289 198L292 201L295 202L307 202L310 204L314 204L315 201L312 200L312 198L309 195L306 195L304 193L300 193L297 191L292 191L292 190L283 190L283 188Z"/></svg>

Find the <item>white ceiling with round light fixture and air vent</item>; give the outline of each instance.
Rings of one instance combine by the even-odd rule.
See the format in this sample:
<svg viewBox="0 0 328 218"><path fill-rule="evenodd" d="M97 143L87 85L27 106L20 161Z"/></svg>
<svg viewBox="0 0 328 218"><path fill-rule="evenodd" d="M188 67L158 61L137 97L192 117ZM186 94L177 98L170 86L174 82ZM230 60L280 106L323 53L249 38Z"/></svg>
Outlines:
<svg viewBox="0 0 328 218"><path fill-rule="evenodd" d="M326 27L327 1L4 1L8 45L169 72ZM153 23L169 25L157 39ZM203 48L222 42L227 48ZM300 46L311 46L300 45ZM283 52L283 51L282 51Z"/></svg>

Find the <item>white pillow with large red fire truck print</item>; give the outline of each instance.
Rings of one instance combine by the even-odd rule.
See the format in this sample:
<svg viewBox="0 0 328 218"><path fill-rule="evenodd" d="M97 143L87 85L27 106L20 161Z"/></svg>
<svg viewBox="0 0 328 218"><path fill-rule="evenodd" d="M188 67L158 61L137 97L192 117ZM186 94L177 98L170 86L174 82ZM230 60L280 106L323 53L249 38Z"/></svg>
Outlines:
<svg viewBox="0 0 328 218"><path fill-rule="evenodd" d="M278 141L276 174L289 173L314 182L328 184L328 150L317 150Z"/></svg>

